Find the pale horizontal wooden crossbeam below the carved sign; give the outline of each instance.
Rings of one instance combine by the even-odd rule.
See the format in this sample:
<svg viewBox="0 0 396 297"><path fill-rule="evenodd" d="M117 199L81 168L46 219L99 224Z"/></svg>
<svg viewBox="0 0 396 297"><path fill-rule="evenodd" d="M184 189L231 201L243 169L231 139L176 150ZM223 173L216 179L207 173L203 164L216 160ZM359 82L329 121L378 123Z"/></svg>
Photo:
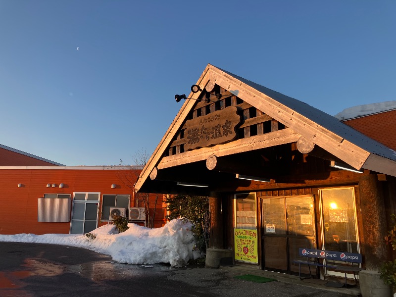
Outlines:
<svg viewBox="0 0 396 297"><path fill-rule="evenodd" d="M299 137L300 135L295 133L292 129L287 128L263 135L256 135L249 138L235 140L223 145L217 145L210 148L200 148L173 156L163 157L158 163L157 167L159 169L163 169L182 164L203 161L212 154L216 155L217 157L221 157L260 148L274 147L296 142Z"/></svg>

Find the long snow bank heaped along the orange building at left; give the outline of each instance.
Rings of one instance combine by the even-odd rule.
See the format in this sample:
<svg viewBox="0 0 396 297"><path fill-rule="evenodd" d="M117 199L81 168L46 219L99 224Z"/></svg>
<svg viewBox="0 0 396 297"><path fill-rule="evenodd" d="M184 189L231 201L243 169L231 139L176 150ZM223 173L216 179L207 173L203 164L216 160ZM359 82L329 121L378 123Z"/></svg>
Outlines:
<svg viewBox="0 0 396 297"><path fill-rule="evenodd" d="M128 264L169 263L182 267L199 256L198 252L193 252L195 239L190 222L174 219L157 229L132 223L128 227L120 234L113 225L99 227L91 232L95 239L74 234L16 234L0 235L0 241L84 247Z"/></svg>

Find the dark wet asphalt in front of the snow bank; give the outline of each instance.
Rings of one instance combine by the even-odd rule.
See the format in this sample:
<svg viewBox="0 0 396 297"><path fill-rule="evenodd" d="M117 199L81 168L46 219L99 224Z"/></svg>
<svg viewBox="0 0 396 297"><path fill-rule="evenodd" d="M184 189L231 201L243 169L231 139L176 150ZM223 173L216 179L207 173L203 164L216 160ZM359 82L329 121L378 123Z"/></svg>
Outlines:
<svg viewBox="0 0 396 297"><path fill-rule="evenodd" d="M151 266L151 265L149 265ZM120 264L91 250L0 242L0 297L347 297L202 266Z"/></svg>

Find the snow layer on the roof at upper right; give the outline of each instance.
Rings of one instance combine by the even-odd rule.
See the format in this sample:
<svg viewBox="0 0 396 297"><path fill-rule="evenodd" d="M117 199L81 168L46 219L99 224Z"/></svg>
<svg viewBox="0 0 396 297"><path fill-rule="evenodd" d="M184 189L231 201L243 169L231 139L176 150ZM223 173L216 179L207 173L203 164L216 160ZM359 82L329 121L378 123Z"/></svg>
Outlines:
<svg viewBox="0 0 396 297"><path fill-rule="evenodd" d="M344 121L394 109L396 109L396 101L385 101L349 107L337 113L334 117Z"/></svg>

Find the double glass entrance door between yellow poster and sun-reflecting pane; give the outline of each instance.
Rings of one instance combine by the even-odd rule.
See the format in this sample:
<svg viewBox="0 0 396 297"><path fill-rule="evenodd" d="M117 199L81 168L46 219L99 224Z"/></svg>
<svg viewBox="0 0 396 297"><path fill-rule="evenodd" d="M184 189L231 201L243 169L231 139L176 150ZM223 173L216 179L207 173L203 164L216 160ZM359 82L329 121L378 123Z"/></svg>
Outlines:
<svg viewBox="0 0 396 297"><path fill-rule="evenodd" d="M264 269L298 272L298 248L315 248L315 219L312 196L261 199ZM306 269L306 271L305 271ZM301 267L302 273L309 273Z"/></svg>

